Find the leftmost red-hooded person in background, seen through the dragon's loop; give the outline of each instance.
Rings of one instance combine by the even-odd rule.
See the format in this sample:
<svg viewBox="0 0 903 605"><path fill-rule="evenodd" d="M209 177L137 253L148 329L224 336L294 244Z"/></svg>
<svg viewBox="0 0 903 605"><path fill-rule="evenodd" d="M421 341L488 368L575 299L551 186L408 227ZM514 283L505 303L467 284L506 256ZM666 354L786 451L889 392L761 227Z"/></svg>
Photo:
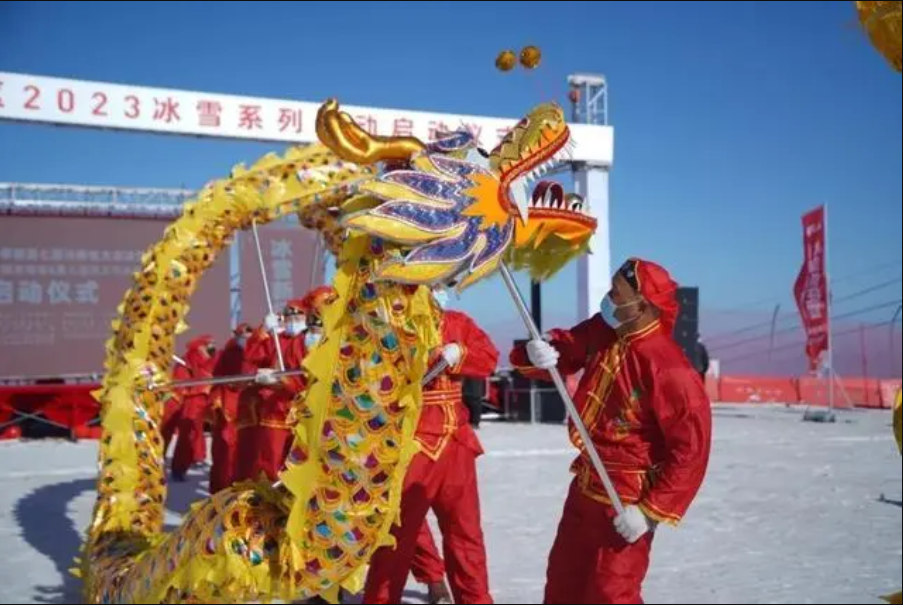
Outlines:
<svg viewBox="0 0 903 605"><path fill-rule="evenodd" d="M216 343L212 336L204 335L188 343L185 365L173 370L173 380L197 380L212 378L216 366ZM211 386L189 387L179 390L182 404L178 418L178 437L172 456L172 476L184 481L192 465L207 458L207 442L204 440L204 420L210 410Z"/></svg>

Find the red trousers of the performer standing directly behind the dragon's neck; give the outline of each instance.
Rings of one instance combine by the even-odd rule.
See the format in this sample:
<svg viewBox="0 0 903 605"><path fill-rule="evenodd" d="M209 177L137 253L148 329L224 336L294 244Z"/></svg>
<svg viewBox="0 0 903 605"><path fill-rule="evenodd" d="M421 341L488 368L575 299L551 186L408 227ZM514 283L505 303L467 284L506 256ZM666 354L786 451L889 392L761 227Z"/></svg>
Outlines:
<svg viewBox="0 0 903 605"><path fill-rule="evenodd" d="M452 440L438 461L417 454L405 477L397 546L376 551L370 561L364 603L401 603L402 593L430 508L439 519L442 546L455 603L493 603L486 547L480 526L476 453Z"/></svg>

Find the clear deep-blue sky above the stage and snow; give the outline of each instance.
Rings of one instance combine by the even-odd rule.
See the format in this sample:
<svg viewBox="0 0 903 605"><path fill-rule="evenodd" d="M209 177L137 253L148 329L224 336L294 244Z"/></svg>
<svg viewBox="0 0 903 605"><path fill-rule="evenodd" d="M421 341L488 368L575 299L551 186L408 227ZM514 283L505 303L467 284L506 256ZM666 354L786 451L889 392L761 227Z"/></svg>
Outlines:
<svg viewBox="0 0 903 605"><path fill-rule="evenodd" d="M526 44L539 70L495 70ZM822 202L835 275L901 256L900 75L853 2L3 2L0 70L507 116L604 73L615 262L657 260L708 308L789 300ZM269 150L0 124L0 180L197 187ZM546 308L572 317L574 288L568 269ZM460 306L513 313L486 293Z"/></svg>

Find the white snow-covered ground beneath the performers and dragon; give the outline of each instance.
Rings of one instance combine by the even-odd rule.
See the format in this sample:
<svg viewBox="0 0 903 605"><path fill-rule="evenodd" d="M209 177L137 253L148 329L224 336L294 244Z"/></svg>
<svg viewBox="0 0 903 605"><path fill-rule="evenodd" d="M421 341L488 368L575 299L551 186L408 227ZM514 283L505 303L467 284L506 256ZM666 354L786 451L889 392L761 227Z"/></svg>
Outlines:
<svg viewBox="0 0 903 605"><path fill-rule="evenodd" d="M773 407L721 406L715 416L706 485L685 525L657 537L648 602L876 603L900 589L903 466L888 412L834 425ZM494 596L540 602L572 452L555 426L490 424L480 437ZM93 503L95 448L0 444L0 599L78 602L66 570ZM173 486L173 522L205 481L199 472Z"/></svg>

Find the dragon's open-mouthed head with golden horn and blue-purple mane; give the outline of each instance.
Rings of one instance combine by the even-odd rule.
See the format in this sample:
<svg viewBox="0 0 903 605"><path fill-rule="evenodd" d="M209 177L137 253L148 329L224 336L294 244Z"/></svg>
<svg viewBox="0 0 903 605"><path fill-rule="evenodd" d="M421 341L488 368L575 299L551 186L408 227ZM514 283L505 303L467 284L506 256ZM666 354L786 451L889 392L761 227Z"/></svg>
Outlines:
<svg viewBox="0 0 903 605"><path fill-rule="evenodd" d="M334 101L321 108L317 132L342 159L386 163L340 209L345 227L396 246L380 267L383 279L462 290L506 255L541 279L584 253L595 231L596 221L560 185L541 182L530 193L570 155L570 130L556 104L536 107L489 153L466 131L429 145L370 135Z"/></svg>

